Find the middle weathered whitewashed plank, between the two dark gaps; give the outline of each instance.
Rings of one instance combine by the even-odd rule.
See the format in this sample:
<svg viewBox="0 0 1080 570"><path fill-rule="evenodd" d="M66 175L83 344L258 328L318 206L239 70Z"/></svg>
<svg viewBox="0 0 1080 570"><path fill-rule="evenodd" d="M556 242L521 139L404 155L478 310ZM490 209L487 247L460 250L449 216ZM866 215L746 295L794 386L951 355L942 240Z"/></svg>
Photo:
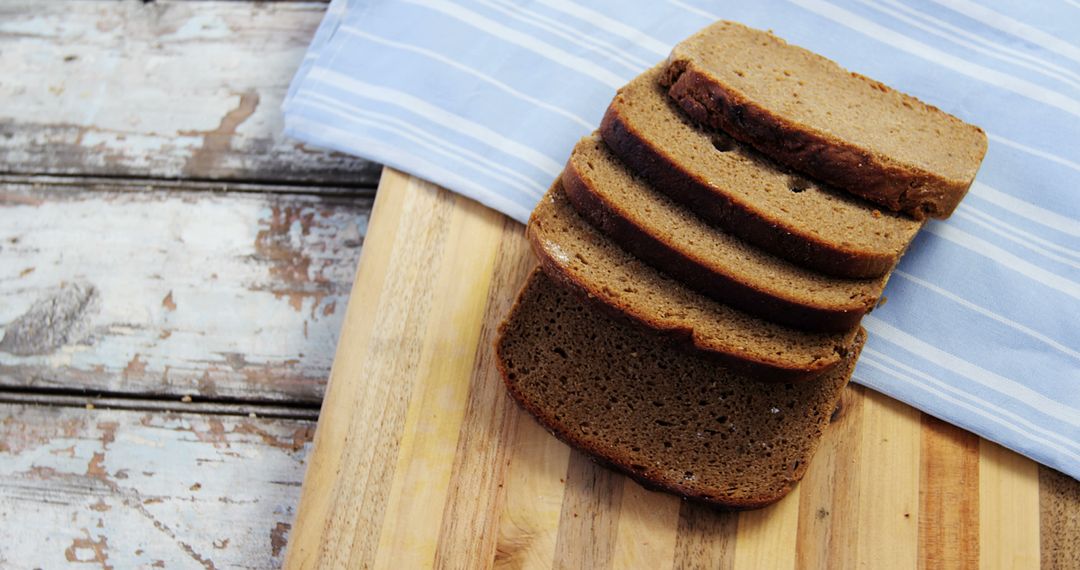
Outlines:
<svg viewBox="0 0 1080 570"><path fill-rule="evenodd" d="M69 182L0 188L0 385L321 401L370 198Z"/></svg>

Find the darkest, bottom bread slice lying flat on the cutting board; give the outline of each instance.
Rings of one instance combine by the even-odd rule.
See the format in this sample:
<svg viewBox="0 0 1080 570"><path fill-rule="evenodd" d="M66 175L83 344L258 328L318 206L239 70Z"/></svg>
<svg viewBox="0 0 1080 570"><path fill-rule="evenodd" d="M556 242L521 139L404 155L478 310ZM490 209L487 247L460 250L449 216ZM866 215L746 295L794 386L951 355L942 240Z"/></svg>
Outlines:
<svg viewBox="0 0 1080 570"><path fill-rule="evenodd" d="M496 351L511 396L570 446L646 487L742 510L806 473L864 338L818 381L762 383L660 345L538 271Z"/></svg>

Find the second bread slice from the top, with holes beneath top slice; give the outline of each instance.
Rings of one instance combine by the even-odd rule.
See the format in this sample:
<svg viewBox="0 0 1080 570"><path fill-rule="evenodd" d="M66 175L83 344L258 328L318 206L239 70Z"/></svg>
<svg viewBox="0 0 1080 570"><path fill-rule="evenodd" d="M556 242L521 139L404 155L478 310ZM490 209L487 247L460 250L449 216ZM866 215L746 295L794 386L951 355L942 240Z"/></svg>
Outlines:
<svg viewBox="0 0 1080 570"><path fill-rule="evenodd" d="M778 167L721 133L696 126L652 68L619 90L600 124L631 171L694 214L775 256L831 275L883 275L920 222Z"/></svg>

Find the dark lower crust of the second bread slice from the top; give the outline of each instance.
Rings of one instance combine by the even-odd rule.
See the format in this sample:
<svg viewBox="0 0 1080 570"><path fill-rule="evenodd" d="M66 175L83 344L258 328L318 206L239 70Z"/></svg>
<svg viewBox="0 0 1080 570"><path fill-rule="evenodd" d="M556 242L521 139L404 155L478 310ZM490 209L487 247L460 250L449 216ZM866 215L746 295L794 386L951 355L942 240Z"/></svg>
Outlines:
<svg viewBox="0 0 1080 570"><path fill-rule="evenodd" d="M651 144L622 117L615 101L604 114L599 133L616 155L653 188L686 204L705 220L795 264L828 275L869 279L889 272L903 255L903 250L853 250L824 242L809 232L794 233L783 220L770 218L750 204L735 203Z"/></svg>

